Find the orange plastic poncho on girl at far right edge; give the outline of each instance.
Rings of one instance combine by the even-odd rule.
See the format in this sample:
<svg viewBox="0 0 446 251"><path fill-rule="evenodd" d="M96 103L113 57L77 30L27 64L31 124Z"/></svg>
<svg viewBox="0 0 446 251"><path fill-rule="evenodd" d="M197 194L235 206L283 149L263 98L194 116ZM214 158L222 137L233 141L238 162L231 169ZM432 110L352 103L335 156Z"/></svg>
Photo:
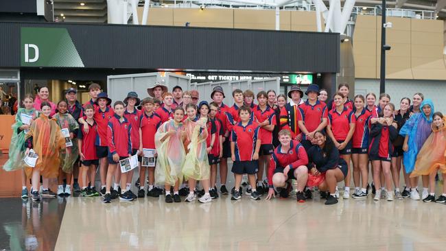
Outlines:
<svg viewBox="0 0 446 251"><path fill-rule="evenodd" d="M446 174L446 117L443 117L443 128L436 128L434 123L431 127L432 133L416 157L415 169L410 178L429 175L437 168Z"/></svg>

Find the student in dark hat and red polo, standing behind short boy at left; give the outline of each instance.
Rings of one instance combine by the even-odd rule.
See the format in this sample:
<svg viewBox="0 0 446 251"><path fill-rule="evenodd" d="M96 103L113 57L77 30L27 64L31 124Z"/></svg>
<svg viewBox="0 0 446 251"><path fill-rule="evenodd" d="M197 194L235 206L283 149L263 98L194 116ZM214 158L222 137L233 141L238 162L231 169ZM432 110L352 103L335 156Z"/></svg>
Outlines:
<svg viewBox="0 0 446 251"><path fill-rule="evenodd" d="M97 136L95 140L95 148L97 158L99 158L99 174L101 178L101 195L106 192L106 176L108 169L108 142L107 142L107 125L108 120L115 115L115 111L110 107L111 99L107 93L99 93L97 95L95 115L93 119L97 123ZM79 118L79 122L84 125L84 132L88 132L89 125L84 121L85 117Z"/></svg>

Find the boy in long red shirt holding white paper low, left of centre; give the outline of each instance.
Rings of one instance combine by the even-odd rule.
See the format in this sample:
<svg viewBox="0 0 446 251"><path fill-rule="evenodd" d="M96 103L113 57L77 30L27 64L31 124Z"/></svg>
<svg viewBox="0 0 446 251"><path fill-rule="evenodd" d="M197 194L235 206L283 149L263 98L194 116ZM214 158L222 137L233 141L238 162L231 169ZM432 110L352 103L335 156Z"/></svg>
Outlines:
<svg viewBox="0 0 446 251"><path fill-rule="evenodd" d="M132 156L132 125L124 117L124 103L122 101L116 101L114 106L116 114L108 121L107 127L107 139L108 139L108 171L107 171L107 183L106 194L104 196L104 203L110 203L112 198L110 189L113 175L117 172L121 172L118 167L119 160ZM128 173L121 174L121 194L119 200L134 200L126 190Z"/></svg>

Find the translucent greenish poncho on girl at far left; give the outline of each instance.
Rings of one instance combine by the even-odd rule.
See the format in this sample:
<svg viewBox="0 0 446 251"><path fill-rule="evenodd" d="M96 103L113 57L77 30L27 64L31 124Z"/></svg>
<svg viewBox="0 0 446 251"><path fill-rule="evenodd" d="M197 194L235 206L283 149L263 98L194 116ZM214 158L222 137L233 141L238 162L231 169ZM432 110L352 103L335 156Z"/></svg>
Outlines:
<svg viewBox="0 0 446 251"><path fill-rule="evenodd" d="M38 112L36 109L32 108L27 110L25 108L19 108L16 114L16 123L12 125L12 137L9 149L9 158L3 165L5 171L19 170L24 167L23 158L25 158L25 130L21 130L17 133L18 129L23 125L21 115L30 115L32 119L38 117Z"/></svg>

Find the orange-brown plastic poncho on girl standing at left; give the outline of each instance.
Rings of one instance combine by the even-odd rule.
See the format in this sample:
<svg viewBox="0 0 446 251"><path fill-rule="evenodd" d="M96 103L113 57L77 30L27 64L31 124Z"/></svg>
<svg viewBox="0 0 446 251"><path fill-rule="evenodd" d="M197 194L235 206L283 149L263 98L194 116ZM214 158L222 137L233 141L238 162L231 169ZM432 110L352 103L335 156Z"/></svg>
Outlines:
<svg viewBox="0 0 446 251"><path fill-rule="evenodd" d="M40 115L34 120L30 132L25 136L25 145L26 147L32 146L32 149L38 155L34 168L25 166L26 176L30 177L33 169L39 169L41 176L57 178L60 166L59 152L65 148L65 139L56 119L49 119L45 115Z"/></svg>

